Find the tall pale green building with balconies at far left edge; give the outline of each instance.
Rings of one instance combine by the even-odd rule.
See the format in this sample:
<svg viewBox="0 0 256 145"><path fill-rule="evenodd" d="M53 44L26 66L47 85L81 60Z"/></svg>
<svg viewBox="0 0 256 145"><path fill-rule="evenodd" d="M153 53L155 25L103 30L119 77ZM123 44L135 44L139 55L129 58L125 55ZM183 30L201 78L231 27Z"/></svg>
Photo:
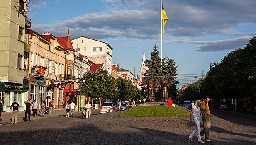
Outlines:
<svg viewBox="0 0 256 145"><path fill-rule="evenodd" d="M29 0L1 0L0 2L0 97L3 111L10 112L14 99L25 109L29 79L29 44L26 29Z"/></svg>

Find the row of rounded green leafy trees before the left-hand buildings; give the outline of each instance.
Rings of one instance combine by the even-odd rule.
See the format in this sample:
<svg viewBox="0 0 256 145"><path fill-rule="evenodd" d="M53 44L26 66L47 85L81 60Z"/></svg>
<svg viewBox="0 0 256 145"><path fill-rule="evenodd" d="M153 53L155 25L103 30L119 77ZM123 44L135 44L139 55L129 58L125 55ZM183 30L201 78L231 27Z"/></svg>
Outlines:
<svg viewBox="0 0 256 145"><path fill-rule="evenodd" d="M140 90L123 78L113 78L107 70L98 69L96 72L86 72L80 84L81 93L91 98L110 99L141 99Z"/></svg>

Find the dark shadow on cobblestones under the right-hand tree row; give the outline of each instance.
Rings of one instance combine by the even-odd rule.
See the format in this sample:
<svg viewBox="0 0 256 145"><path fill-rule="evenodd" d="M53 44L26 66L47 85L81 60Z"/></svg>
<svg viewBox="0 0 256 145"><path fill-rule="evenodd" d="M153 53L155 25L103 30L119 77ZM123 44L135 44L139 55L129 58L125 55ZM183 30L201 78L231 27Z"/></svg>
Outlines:
<svg viewBox="0 0 256 145"><path fill-rule="evenodd" d="M214 116L217 116L219 118L222 118L224 120L237 123L239 125L244 125L244 126L256 126L256 119L246 117L246 116L239 116L236 114L230 114L225 111L219 111L217 109L211 109L210 113Z"/></svg>

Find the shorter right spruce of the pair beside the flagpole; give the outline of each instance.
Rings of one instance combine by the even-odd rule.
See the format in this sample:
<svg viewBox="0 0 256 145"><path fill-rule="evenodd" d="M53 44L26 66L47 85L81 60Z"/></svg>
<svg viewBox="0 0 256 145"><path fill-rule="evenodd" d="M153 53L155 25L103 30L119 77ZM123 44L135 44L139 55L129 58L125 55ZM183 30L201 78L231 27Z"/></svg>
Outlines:
<svg viewBox="0 0 256 145"><path fill-rule="evenodd" d="M166 79L168 79L171 83L171 87L168 89L168 97L176 97L178 93L176 85L179 82L175 80L178 78L176 77L178 75L178 73L176 73L176 68L177 66L175 65L175 61L173 59L168 57L163 59L163 76L165 76Z"/></svg>

